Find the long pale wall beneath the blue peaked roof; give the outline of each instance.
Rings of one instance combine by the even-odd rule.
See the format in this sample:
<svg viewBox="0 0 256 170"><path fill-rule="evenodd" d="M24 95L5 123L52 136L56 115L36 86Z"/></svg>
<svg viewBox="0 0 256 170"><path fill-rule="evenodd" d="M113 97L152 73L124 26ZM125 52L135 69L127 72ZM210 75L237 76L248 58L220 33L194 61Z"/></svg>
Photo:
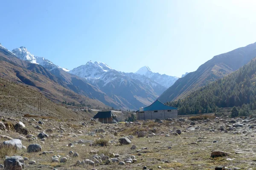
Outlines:
<svg viewBox="0 0 256 170"><path fill-rule="evenodd" d="M137 120L147 120L147 119L156 119L160 118L162 120L166 118L178 118L178 112L177 110L171 110L168 112L168 110L157 110L157 112L154 111L144 111L144 113L137 112Z"/></svg>

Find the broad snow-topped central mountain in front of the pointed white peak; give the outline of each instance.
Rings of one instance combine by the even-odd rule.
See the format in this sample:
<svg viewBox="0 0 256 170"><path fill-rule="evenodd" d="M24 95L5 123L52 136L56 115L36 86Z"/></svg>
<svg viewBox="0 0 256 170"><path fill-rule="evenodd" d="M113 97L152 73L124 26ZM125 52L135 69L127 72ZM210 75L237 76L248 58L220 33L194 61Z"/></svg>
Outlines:
<svg viewBox="0 0 256 170"><path fill-rule="evenodd" d="M113 98L119 107L138 109L151 104L166 88L144 75L124 73L105 63L89 61L70 73L85 78Z"/></svg>

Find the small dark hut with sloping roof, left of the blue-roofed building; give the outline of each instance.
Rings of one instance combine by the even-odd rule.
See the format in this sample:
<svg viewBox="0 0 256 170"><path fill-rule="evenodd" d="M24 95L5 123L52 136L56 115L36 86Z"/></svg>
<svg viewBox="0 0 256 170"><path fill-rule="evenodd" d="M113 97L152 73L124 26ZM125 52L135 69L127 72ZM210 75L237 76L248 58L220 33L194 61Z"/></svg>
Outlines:
<svg viewBox="0 0 256 170"><path fill-rule="evenodd" d="M99 122L104 124L112 124L118 121L116 115L111 111L98 112L93 118L99 118Z"/></svg>

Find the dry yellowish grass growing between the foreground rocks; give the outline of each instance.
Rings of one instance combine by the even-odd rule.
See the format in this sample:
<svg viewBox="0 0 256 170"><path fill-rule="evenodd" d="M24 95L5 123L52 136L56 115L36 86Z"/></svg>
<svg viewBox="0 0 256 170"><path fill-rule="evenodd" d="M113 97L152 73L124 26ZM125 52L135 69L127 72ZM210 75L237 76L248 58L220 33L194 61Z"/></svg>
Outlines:
<svg viewBox="0 0 256 170"><path fill-rule="evenodd" d="M25 118L21 121L23 121L26 124L26 127L32 131L32 134L37 135L39 133L39 131L33 126L30 126L30 124L25 122ZM251 164L251 162L255 163L256 161L256 146L254 144L256 137L253 135L246 135L246 133L233 135L233 132L224 133L220 131L210 133L206 130L207 128L217 129L219 126L222 126L221 122L216 124L215 119L211 119L211 122L207 124L200 123L201 121L195 121L196 126L199 126L201 130L189 130L188 127L190 124L186 122L175 124L170 124L170 122L167 121L163 121L161 124L155 124L152 122L153 121L148 121L144 124L141 122L141 125L101 124L97 122L93 126L88 124L88 127L81 127L79 131L81 131L82 134L70 136L68 133L78 134L76 126L80 127L79 125L81 124L81 121L68 121L67 123L52 119L45 121L45 124L42 127L44 129L56 129L58 127L62 127L65 129L65 132L63 133L65 136L64 138L60 139L50 136L44 144L41 144L39 140L35 142L22 141L22 143L26 147L31 143L40 143L43 147L42 151L53 151L53 154L40 156L39 153L27 153L26 150L20 150L17 153L8 153L10 153L9 156L12 154L22 154L23 157L28 157L29 160L35 160L37 162L35 165L28 165L28 161L25 161L26 170L40 170L42 168L45 170L52 170L53 168L58 168L58 170L89 170L93 168L97 170L141 170L143 166L147 166L148 169L153 170L157 169L157 166L161 166L164 170L171 168L175 170L212 170L216 166L227 166L232 169L233 167L247 167L247 169L253 168L253 170L256 170L255 165ZM88 121L87 123L90 122ZM154 127L157 128L157 133L155 136L150 138L137 138L137 136L134 136L134 139L131 141L132 144L137 145L137 149L131 150L131 144L119 145L118 139L120 136L112 136L114 126L118 127L116 131L118 131L119 135L134 135L139 131L149 132L149 130ZM100 139L99 136L93 137L86 135L86 133L99 128L106 130L106 134L103 134L105 139ZM173 130L175 128L179 128L183 133L180 135L172 135L169 130ZM249 130L249 127L246 128ZM54 134L58 133L59 131L57 129L54 130ZM20 135L13 131L9 131L8 134L13 138ZM169 134L170 136L165 136L166 134ZM93 141L94 144L93 146L89 146L90 142L76 144L75 141L79 141L80 139L84 141ZM198 141L199 139L201 139L201 141ZM212 143L214 140L218 142ZM108 143L108 141L112 141L112 143ZM160 141L161 143L156 143L155 141ZM68 147L67 144L69 143L73 143L74 147ZM109 145L102 147L102 145L105 144ZM137 152L137 150L142 147L147 147L147 149ZM172 148L168 149L168 147ZM66 163L51 162L52 156L60 155L61 157L64 157L68 155L70 150L79 153L79 157L73 158L71 156ZM92 150L97 154L103 153L110 157L112 155L111 153L118 153L121 160L127 156L134 155L137 158L137 163L119 166L115 163L103 165L103 161L102 165L97 165L95 167L89 165L70 167L70 164L76 164L76 161L78 160L82 161L87 158L91 159L94 155L94 153L90 153ZM213 150L223 150L231 153L231 155L227 157L210 158L210 154ZM242 154L235 154L237 151L242 152ZM3 162L3 156L6 154L7 152L1 154L2 158L0 158L0 162ZM232 158L233 161L228 161L227 158Z"/></svg>

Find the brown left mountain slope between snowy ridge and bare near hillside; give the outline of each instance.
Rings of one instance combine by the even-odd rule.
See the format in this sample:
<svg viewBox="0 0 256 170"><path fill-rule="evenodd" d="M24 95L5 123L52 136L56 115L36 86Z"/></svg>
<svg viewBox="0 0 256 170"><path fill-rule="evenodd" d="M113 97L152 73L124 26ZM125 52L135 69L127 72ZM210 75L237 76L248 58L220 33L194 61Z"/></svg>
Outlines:
<svg viewBox="0 0 256 170"><path fill-rule="evenodd" d="M85 95L84 91L87 89L90 89L90 93L103 96L105 94L78 76L68 74L59 68L49 71L39 64L22 61L3 46L0 46L0 77L29 85L56 103L67 101L76 104L84 103L94 107L107 107L98 100L86 97L90 95L89 93ZM81 82L77 83L77 81ZM79 86L76 86L78 84L83 85L83 89L79 89ZM81 95L82 92L84 95Z"/></svg>

